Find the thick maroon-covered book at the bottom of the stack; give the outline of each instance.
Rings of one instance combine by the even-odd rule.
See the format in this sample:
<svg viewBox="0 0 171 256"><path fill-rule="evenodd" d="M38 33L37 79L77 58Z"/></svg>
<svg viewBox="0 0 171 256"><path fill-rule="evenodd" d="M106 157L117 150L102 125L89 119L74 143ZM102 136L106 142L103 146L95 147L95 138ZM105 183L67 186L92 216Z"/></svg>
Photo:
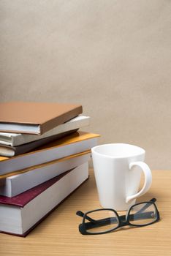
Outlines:
<svg viewBox="0 0 171 256"><path fill-rule="evenodd" d="M26 236L87 178L84 163L16 197L1 195L0 232Z"/></svg>

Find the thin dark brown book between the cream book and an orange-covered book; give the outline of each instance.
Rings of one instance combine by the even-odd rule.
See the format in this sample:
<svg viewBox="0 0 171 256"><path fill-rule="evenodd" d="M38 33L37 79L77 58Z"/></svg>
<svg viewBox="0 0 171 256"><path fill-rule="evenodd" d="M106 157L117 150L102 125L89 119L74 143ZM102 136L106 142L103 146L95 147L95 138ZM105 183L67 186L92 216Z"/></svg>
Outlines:
<svg viewBox="0 0 171 256"><path fill-rule="evenodd" d="M50 143L53 140L57 140L59 138L62 138L76 131L77 129L74 129L68 132L62 132L58 135L53 135L47 138L43 138L41 140L31 141L30 143L26 143L20 146L7 146L7 145L0 144L0 156L4 156L4 157L18 156L19 154L27 153L33 150L34 148L38 148L39 146L45 145L46 143Z"/></svg>

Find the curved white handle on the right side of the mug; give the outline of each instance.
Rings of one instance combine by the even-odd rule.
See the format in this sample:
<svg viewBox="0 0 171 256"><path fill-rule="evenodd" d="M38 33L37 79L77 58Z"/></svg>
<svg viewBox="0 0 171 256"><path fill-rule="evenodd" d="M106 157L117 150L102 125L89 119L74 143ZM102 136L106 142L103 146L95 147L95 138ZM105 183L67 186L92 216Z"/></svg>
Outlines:
<svg viewBox="0 0 171 256"><path fill-rule="evenodd" d="M139 166L142 169L145 175L145 183L140 192L137 192L137 194L135 195L129 195L126 197L126 203L128 203L132 199L135 199L136 197L140 197L140 195L144 195L148 191L148 189L150 189L152 183L151 169L148 167L148 165L145 164L145 162L131 162L129 164L129 170L131 170L132 167L135 165Z"/></svg>

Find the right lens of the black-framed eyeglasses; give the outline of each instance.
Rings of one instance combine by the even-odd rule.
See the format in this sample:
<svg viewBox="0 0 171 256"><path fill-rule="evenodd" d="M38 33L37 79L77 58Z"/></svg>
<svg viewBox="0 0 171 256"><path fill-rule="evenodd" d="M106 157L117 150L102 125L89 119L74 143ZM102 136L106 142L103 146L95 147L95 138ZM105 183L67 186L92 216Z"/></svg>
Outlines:
<svg viewBox="0 0 171 256"><path fill-rule="evenodd" d="M156 207L150 202L132 206L129 211L129 223L132 225L147 225L155 222L156 219Z"/></svg>

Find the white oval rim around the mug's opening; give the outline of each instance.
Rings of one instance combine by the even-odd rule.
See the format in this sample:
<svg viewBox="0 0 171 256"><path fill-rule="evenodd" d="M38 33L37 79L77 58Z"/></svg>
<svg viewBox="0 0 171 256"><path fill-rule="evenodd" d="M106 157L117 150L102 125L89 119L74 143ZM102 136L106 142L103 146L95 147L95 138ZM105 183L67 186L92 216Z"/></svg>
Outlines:
<svg viewBox="0 0 171 256"><path fill-rule="evenodd" d="M133 146L134 148L138 148L141 152L137 153L137 154L130 154L130 155L127 155L127 156L110 156L110 155L107 155L107 154L102 154L102 153L99 153L96 151L97 148L102 148L103 146L111 146L111 145L126 145L126 146ZM133 144L129 144L129 143L106 143L106 144L101 144L101 145L98 145L98 146L94 146L93 148L91 148L91 152L94 153L94 154L97 154L101 157L108 157L110 159L123 159L123 158L129 158L129 157L137 157L137 156L140 156L142 154L145 154L145 149L144 148L141 148L140 146L135 146Z"/></svg>

